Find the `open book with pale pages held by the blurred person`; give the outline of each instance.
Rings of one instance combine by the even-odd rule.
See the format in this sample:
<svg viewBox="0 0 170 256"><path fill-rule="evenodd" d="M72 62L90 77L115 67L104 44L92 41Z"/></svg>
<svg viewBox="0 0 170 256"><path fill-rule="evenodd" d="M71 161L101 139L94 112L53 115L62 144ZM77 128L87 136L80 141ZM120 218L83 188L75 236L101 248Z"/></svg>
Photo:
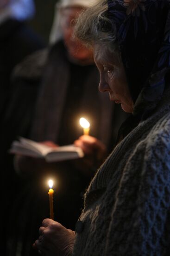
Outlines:
<svg viewBox="0 0 170 256"><path fill-rule="evenodd" d="M74 145L52 148L23 137L20 137L19 141L13 141L9 153L31 157L43 157L46 162L58 162L84 156L82 148L78 148Z"/></svg>

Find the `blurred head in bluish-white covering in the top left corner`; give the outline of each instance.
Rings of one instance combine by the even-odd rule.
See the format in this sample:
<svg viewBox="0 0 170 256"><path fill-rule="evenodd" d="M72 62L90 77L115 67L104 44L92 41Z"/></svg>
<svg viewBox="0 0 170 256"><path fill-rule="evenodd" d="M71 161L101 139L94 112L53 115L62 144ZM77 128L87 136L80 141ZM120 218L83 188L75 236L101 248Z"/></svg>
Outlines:
<svg viewBox="0 0 170 256"><path fill-rule="evenodd" d="M34 14L33 0L0 0L0 24L8 19L29 20Z"/></svg>

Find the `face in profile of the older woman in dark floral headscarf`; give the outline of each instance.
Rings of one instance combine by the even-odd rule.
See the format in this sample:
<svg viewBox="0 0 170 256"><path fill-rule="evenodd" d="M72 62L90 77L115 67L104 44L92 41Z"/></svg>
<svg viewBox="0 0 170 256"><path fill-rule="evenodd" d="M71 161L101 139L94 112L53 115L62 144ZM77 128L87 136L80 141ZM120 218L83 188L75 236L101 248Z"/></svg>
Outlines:
<svg viewBox="0 0 170 256"><path fill-rule="evenodd" d="M125 112L132 113L133 101L118 54L110 53L104 47L94 46L94 61L100 72L99 90L108 92L111 101L120 103Z"/></svg>

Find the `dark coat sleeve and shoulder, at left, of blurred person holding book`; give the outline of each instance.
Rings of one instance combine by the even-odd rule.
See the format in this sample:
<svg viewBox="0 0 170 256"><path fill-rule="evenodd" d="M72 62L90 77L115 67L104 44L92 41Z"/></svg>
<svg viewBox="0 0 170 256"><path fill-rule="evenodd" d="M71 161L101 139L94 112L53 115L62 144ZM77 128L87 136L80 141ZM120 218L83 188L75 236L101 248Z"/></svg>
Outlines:
<svg viewBox="0 0 170 256"><path fill-rule="evenodd" d="M47 55L47 49L37 51L13 70L6 105L0 112L5 148L9 148L17 136L29 135Z"/></svg>

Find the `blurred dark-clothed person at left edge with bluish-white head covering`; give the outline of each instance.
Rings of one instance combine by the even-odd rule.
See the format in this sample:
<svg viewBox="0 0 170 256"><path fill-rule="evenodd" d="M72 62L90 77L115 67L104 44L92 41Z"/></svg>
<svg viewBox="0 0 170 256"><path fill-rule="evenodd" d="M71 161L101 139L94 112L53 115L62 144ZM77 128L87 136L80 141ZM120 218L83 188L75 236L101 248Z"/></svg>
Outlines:
<svg viewBox="0 0 170 256"><path fill-rule="evenodd" d="M13 68L27 55L32 54L38 49L45 47L44 40L38 36L26 22L30 20L35 13L33 0L3 0L0 1L0 124L2 128L3 119L8 107L11 75ZM15 91L13 92L15 94ZM4 132L4 130L3 130ZM5 135L6 133L4 133ZM8 140L8 135L6 141ZM6 147L6 142L3 144ZM13 187L15 175L10 171L6 156L5 148L0 149L2 164L2 180L7 182L9 188ZM11 167L10 167L11 168ZM2 189L3 190L3 189ZM9 189L13 191L13 189ZM2 216L7 216L5 205L11 205L10 191L6 191L6 198L2 197L1 206L4 211ZM8 194L9 192L9 194ZM10 209L10 208L9 208ZM2 228L3 229L3 228ZM4 227L6 229L6 227ZM1 253L6 255L6 230L3 229L3 238L1 240ZM5 240L5 241L4 241Z"/></svg>

